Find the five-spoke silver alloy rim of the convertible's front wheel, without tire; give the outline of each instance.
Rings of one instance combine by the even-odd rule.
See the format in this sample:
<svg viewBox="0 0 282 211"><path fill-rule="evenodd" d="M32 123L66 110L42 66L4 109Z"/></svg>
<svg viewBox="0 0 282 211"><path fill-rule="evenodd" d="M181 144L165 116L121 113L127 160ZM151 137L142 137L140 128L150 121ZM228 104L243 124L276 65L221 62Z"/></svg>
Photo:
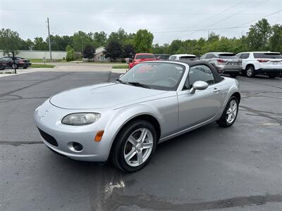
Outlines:
<svg viewBox="0 0 282 211"><path fill-rule="evenodd" d="M142 165L152 153L154 146L152 132L147 128L136 129L125 143L124 159L131 167Z"/></svg>

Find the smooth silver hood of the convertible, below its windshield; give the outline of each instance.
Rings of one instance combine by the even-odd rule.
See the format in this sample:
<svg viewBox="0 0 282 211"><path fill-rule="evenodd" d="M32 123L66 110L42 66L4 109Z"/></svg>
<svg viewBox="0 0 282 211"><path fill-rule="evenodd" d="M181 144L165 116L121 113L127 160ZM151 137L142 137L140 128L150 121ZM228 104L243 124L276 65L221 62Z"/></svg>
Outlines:
<svg viewBox="0 0 282 211"><path fill-rule="evenodd" d="M50 98L54 106L66 109L120 108L146 101L166 91L133 87L127 84L97 84L63 91Z"/></svg>

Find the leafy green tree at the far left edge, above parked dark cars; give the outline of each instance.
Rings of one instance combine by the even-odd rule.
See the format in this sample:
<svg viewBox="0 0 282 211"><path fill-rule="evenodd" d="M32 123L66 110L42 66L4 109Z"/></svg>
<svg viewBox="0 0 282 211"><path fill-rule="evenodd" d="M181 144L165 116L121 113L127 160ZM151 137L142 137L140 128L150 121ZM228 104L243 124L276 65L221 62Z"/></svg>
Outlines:
<svg viewBox="0 0 282 211"><path fill-rule="evenodd" d="M0 30L0 49L4 51L4 55L9 55L12 51L17 53L20 44L22 44L22 39L20 39L18 32L10 29Z"/></svg>

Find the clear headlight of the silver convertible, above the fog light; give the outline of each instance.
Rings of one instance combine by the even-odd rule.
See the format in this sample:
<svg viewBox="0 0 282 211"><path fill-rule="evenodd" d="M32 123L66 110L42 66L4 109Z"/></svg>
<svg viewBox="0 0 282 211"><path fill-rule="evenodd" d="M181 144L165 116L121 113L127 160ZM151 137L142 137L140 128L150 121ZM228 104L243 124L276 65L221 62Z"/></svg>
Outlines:
<svg viewBox="0 0 282 211"><path fill-rule="evenodd" d="M92 124L99 120L100 113L72 113L63 117L62 124L68 125L85 125Z"/></svg>

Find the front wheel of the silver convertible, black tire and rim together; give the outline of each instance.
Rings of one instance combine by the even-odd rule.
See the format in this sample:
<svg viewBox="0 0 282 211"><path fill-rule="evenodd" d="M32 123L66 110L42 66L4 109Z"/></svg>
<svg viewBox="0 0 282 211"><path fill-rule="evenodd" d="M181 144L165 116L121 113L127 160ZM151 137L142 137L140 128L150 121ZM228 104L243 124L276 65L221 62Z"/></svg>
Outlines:
<svg viewBox="0 0 282 211"><path fill-rule="evenodd" d="M139 140L144 132L146 132L145 139ZM125 124L116 136L111 149L111 162L124 172L136 172L147 165L156 146L157 132L151 123L145 120L130 122ZM129 159L125 159L126 157Z"/></svg>

